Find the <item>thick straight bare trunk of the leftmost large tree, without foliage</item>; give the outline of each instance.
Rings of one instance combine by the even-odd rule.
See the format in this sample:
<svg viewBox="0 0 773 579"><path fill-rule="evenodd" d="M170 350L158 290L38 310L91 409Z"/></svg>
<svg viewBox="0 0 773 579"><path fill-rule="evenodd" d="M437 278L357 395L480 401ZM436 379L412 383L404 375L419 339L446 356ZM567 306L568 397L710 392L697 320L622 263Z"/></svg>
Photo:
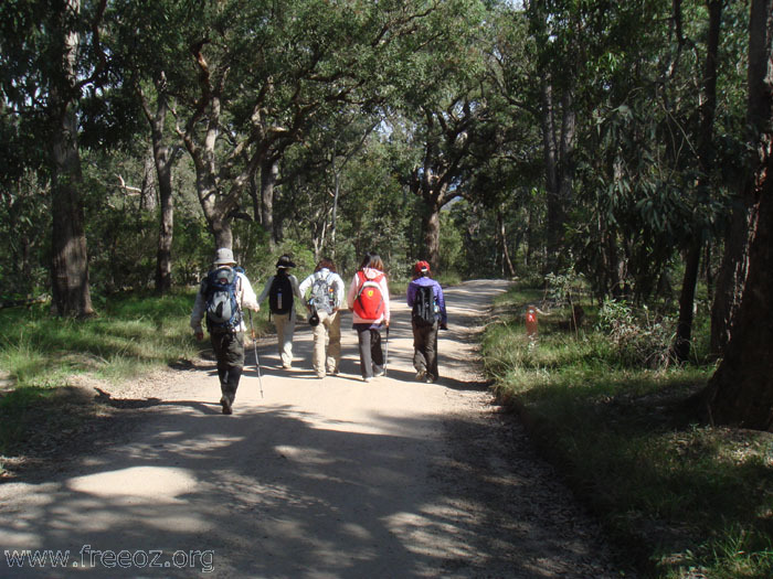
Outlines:
<svg viewBox="0 0 773 579"><path fill-rule="evenodd" d="M77 14L80 10L80 2L70 0L63 9L63 21L68 21L67 12ZM94 310L88 288L88 255L80 193L83 176L77 117L71 96L77 82L75 61L78 34L65 25L62 43L62 77L66 86L52 88L50 105L52 121L56 125L52 141L52 298L60 315L87 317Z"/></svg>

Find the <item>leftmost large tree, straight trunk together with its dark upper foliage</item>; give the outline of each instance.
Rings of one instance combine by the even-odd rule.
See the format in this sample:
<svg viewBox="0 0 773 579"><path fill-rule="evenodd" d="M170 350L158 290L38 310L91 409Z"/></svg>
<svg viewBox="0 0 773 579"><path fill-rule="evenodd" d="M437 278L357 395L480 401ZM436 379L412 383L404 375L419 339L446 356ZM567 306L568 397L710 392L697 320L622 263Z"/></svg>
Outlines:
<svg viewBox="0 0 773 579"><path fill-rule="evenodd" d="M82 200L78 103L95 89L106 57L99 25L107 1L65 0L0 4L0 90L23 119L41 154L28 168L51 182L53 308L62 315L93 313ZM40 164L35 161L40 160Z"/></svg>

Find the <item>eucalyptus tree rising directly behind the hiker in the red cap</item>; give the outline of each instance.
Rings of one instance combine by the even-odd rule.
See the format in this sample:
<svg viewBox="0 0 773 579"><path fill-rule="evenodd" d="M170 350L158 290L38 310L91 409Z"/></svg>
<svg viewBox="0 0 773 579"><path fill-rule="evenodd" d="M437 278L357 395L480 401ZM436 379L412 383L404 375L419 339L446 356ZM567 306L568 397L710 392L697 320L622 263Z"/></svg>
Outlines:
<svg viewBox="0 0 773 579"><path fill-rule="evenodd" d="M459 2L433 30L433 50L419 52L413 74L396 103L410 127L414 151L406 183L422 201L424 257L440 264L441 210L462 193L472 151L488 121L485 7Z"/></svg>

